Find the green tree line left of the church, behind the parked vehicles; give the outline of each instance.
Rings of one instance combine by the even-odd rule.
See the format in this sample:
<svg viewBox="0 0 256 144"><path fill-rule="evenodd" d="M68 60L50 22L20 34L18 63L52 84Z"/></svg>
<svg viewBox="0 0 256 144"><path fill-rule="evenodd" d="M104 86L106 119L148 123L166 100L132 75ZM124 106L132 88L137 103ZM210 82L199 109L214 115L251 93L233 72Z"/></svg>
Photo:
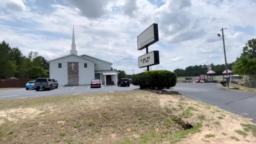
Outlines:
<svg viewBox="0 0 256 144"><path fill-rule="evenodd" d="M30 51L27 56L18 47L3 41L0 43L0 78L18 77L36 79L48 77L49 64L37 51Z"/></svg>

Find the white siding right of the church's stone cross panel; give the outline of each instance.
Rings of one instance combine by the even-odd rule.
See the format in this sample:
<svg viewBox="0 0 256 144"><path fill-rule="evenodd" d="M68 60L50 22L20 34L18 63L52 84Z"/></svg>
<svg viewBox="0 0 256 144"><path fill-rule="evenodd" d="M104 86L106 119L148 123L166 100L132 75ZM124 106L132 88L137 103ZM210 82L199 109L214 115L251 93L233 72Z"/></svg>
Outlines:
<svg viewBox="0 0 256 144"><path fill-rule="evenodd" d="M87 68L84 63L87 63ZM79 62L79 85L89 85L94 76L94 62Z"/></svg>

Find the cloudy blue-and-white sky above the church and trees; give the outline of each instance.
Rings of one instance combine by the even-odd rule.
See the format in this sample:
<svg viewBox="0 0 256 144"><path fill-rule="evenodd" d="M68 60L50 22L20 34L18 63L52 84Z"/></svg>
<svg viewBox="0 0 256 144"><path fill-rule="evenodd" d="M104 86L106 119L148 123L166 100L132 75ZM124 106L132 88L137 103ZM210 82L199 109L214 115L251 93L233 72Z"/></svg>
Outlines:
<svg viewBox="0 0 256 144"><path fill-rule="evenodd" d="M223 64L240 56L247 40L256 38L256 0L0 0L0 41L25 55L38 51L46 59L69 54L72 25L78 54L113 63L128 74L138 68L136 37L158 24L160 52L152 69Z"/></svg>

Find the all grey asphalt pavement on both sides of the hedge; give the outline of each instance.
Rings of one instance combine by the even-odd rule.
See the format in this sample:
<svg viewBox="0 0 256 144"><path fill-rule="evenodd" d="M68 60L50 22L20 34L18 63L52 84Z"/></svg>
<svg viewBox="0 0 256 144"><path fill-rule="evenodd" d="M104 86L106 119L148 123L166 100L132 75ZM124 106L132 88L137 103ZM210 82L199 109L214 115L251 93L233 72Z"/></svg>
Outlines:
<svg viewBox="0 0 256 144"><path fill-rule="evenodd" d="M101 88L90 88L89 85L81 85L59 87L52 91L26 91L25 88L22 88L0 91L0 100L86 93L115 93L118 91L138 91L138 88L139 87L136 85L130 85L130 87L108 85ZM179 91L179 93L189 98L216 105L221 109L226 109L229 112L240 114L245 117L250 117L253 119L253 122L256 123L256 94L225 90L217 87L216 83L177 83L175 87L168 91Z"/></svg>

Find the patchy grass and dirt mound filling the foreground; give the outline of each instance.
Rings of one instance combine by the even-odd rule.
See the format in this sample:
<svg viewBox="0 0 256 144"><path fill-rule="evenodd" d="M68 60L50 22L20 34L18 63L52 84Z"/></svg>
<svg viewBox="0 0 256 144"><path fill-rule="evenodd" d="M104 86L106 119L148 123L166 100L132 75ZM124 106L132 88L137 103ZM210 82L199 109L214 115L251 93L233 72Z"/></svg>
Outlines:
<svg viewBox="0 0 256 144"><path fill-rule="evenodd" d="M256 142L249 119L181 95L136 91L0 101L1 144L238 144L237 139Z"/></svg>

